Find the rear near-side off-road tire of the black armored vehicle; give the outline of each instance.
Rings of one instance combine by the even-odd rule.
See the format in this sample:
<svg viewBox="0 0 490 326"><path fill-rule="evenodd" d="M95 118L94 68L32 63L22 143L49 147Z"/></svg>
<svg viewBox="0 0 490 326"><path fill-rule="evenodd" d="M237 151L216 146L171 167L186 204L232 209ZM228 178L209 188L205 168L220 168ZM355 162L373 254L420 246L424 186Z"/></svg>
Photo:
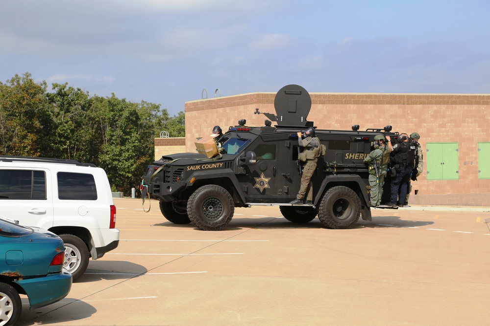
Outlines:
<svg viewBox="0 0 490 326"><path fill-rule="evenodd" d="M337 186L321 198L318 219L329 229L349 229L361 216L361 199L350 188Z"/></svg>

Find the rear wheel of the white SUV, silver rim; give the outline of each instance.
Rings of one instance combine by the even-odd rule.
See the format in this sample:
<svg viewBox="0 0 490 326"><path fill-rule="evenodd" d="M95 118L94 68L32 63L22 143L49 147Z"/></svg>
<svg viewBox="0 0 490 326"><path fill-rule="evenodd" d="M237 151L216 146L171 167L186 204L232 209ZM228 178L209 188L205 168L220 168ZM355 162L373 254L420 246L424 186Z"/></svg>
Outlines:
<svg viewBox="0 0 490 326"><path fill-rule="evenodd" d="M61 234L59 237L65 244L63 268L72 274L72 280L75 281L85 273L89 265L89 249L82 239L73 234Z"/></svg>

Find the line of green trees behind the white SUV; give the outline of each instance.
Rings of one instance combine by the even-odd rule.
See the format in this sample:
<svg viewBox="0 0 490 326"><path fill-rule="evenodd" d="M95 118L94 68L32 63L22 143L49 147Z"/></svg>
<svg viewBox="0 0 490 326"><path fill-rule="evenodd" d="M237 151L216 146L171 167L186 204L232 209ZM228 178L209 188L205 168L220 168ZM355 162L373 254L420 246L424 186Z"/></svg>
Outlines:
<svg viewBox="0 0 490 326"><path fill-rule="evenodd" d="M131 194L154 160L154 138L185 136L185 116L159 104L89 95L30 73L0 82L0 154L53 157L103 168L113 191Z"/></svg>

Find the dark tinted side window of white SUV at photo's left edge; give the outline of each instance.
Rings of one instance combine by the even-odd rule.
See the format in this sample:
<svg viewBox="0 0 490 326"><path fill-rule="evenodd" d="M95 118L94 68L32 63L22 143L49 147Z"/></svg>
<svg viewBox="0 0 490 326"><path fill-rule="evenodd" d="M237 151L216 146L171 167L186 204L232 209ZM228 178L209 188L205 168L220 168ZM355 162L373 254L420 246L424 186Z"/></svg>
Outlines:
<svg viewBox="0 0 490 326"><path fill-rule="evenodd" d="M44 171L1 170L0 199L46 200Z"/></svg>

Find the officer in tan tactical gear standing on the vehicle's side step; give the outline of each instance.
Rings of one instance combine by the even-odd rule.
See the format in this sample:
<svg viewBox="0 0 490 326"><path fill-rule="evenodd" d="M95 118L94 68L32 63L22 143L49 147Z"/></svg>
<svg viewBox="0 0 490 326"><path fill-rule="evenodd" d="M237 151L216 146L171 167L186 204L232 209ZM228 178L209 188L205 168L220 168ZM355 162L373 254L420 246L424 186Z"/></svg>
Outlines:
<svg viewBox="0 0 490 326"><path fill-rule="evenodd" d="M304 162L301 174L301 186L296 199L290 202L293 205L302 205L306 195L306 204L313 205L313 182L311 178L317 169L317 161L320 156L320 140L315 135L315 128L310 127L303 134L298 132L299 147L302 151L298 158Z"/></svg>

